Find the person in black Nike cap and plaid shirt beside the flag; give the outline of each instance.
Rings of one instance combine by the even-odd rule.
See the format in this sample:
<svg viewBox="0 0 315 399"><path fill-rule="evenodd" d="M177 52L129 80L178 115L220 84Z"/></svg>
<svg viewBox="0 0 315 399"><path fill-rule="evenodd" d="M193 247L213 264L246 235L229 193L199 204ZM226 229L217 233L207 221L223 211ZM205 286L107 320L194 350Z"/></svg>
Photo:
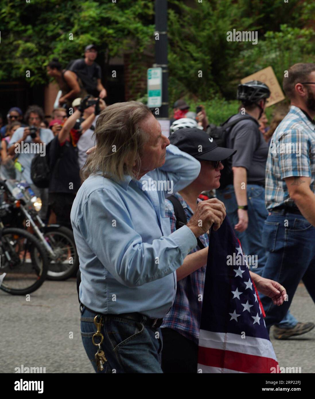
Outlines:
<svg viewBox="0 0 315 399"><path fill-rule="evenodd" d="M187 222L201 202L208 202L213 213L224 204L217 198L202 201L198 198L203 191L217 189L220 186L222 160L235 154L236 150L218 147L215 140L197 128L176 130L169 141L183 152L199 160L199 176L189 186L165 199L165 217L169 217L171 233L177 228L176 206L183 207ZM173 205L174 204L174 205ZM177 290L171 310L163 318L161 325L163 349L161 367L164 373L197 373L198 340L201 321L202 301L208 257L209 236L207 233L197 239L198 245L185 257L183 265L177 269ZM218 267L223 265L218 265ZM271 290L272 280L250 272L258 290L268 295L266 286ZM274 295L274 294L272 294Z"/></svg>

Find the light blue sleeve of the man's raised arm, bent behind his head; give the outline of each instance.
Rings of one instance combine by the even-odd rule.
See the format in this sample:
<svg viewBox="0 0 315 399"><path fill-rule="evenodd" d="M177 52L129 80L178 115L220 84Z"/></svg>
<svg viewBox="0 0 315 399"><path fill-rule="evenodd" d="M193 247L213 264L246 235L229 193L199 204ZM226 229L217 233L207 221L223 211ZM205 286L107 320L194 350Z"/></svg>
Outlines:
<svg viewBox="0 0 315 399"><path fill-rule="evenodd" d="M173 144L166 147L165 163L156 171L161 180L173 182L173 192L187 187L200 173L200 162L193 156L179 150Z"/></svg>

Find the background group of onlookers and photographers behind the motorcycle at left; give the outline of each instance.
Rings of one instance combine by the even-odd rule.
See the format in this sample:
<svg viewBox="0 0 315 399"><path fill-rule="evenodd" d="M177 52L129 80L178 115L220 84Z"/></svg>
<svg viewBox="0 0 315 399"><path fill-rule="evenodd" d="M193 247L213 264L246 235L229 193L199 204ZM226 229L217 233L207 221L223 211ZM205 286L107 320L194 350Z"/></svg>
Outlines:
<svg viewBox="0 0 315 399"><path fill-rule="evenodd" d="M81 185L80 168L87 159L87 150L94 145L98 114L106 107L96 55L95 45L88 45L85 58L72 61L66 69L57 59L50 61L47 74L55 78L61 92L50 120L38 105L28 107L24 115L19 107L12 107L7 124L0 130L4 176L30 184L35 196L41 198L39 215L49 223L71 227L71 206ZM40 167L49 176L45 184L34 184L32 180L36 152L25 149L32 144L43 146L41 156L45 161Z"/></svg>

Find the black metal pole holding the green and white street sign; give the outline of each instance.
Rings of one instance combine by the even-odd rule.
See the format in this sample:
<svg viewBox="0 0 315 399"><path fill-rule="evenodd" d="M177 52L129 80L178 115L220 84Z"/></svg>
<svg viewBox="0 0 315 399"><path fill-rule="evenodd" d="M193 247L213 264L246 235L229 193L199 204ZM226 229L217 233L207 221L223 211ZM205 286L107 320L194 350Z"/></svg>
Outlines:
<svg viewBox="0 0 315 399"><path fill-rule="evenodd" d="M155 25L159 40L155 41L156 63L153 66L162 68L162 105L158 118L168 119L167 0L155 0Z"/></svg>

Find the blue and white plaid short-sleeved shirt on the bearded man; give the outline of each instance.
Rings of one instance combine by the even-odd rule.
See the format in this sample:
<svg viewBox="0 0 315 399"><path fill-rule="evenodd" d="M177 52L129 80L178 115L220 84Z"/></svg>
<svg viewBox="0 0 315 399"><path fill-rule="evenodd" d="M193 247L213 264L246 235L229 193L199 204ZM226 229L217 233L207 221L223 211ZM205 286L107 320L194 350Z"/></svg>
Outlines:
<svg viewBox="0 0 315 399"><path fill-rule="evenodd" d="M282 143L286 144L288 149L291 148L291 151L295 148L295 153L278 153L281 152ZM299 147L296 147L296 144ZM297 156L299 148L301 155ZM291 105L289 113L276 128L270 142L265 195L268 210L284 204L295 206L294 201L289 198L284 180L291 176L311 177L310 188L315 193L315 124L294 105Z"/></svg>

